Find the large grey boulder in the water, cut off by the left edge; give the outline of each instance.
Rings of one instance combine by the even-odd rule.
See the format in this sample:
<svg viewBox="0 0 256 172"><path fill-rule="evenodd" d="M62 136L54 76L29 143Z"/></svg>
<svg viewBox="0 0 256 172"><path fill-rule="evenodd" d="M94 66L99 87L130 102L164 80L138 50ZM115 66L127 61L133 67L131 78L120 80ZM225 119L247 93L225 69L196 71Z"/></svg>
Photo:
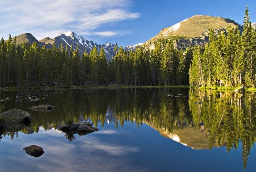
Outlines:
<svg viewBox="0 0 256 172"><path fill-rule="evenodd" d="M30 114L25 110L12 109L0 114L0 129L18 132L30 126Z"/></svg>

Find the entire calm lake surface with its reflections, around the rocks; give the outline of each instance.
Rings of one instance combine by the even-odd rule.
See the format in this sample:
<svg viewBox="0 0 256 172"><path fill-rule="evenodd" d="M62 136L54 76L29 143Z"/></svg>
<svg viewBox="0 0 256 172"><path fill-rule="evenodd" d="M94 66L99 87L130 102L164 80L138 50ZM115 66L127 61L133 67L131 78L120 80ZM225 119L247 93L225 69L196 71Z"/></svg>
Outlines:
<svg viewBox="0 0 256 172"><path fill-rule="evenodd" d="M173 88L0 92L1 112L32 115L31 127L0 133L0 171L256 171L255 100ZM56 109L29 109L41 104ZM69 118L99 130L61 133ZM26 154L33 144L45 153Z"/></svg>

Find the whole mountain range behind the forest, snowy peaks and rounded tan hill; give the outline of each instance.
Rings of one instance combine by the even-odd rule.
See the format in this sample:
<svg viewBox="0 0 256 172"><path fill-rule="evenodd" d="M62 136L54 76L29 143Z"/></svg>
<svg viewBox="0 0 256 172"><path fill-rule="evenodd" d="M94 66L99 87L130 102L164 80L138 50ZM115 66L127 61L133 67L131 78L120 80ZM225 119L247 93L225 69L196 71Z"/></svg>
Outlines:
<svg viewBox="0 0 256 172"><path fill-rule="evenodd" d="M148 40L145 43L138 43L132 46L124 47L125 51L135 50L138 46L143 46L148 49L154 49L155 44L160 42L164 43L167 40L172 40L176 48L187 48L189 46L204 46L209 42L209 31L212 28L215 34L218 34L219 31L226 31L227 27L231 25L232 27L237 27L242 32L242 25L236 23L231 19L224 19L222 17L213 17L206 15L195 15L188 19L185 19L179 23L174 24L173 26L162 29L157 35ZM256 28L256 23L252 23L252 27ZM115 44L106 42L104 44L97 44L93 41L84 39L82 36L76 35L74 32L66 32L64 34L59 34L54 38L46 37L41 40L37 40L30 33L21 34L16 36L16 44L21 44L23 41L26 43L32 44L33 42L38 42L39 46L46 45L47 48L51 48L53 44L57 47L60 44L68 45L68 49L72 46L73 49L79 45L79 54L82 55L86 50L87 53L97 47L98 51L103 46L103 49L106 54L106 58L112 59L114 54ZM118 47L119 48L119 47Z"/></svg>

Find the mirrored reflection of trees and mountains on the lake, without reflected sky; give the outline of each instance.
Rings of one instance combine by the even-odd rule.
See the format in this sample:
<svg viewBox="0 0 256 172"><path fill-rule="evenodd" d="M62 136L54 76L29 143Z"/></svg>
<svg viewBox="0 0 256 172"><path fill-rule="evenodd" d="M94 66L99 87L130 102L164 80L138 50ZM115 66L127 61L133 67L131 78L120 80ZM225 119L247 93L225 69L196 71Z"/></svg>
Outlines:
<svg viewBox="0 0 256 172"><path fill-rule="evenodd" d="M114 123L116 129L118 123L123 127L129 121L138 128L143 124L149 125L162 136L193 149L225 146L230 152L241 144L244 168L256 136L255 93L242 95L166 88L81 89L0 92L0 97L5 100L0 102L2 112L15 106L32 114L31 127L21 130L22 133L38 133L40 126L45 130L53 128L59 131L58 128L69 118L74 122L91 122L96 127ZM22 101L16 101L17 97ZM45 103L54 105L56 109L52 112L29 110L30 106ZM103 132L114 134L116 131ZM2 136L14 138L18 133L4 131ZM70 142L76 140L73 134L65 134L64 137ZM94 140L90 144L96 145ZM116 150L109 147L109 152ZM101 149L100 144L95 149ZM123 149L126 148L118 150ZM129 151L136 152L137 149Z"/></svg>

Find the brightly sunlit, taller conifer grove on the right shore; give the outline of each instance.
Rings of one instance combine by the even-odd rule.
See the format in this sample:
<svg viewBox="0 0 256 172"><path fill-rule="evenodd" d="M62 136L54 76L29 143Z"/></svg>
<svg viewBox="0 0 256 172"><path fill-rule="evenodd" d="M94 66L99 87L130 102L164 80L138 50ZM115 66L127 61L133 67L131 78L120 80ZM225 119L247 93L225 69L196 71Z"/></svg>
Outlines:
<svg viewBox="0 0 256 172"><path fill-rule="evenodd" d="M229 26L218 35L209 33L210 43L195 47L189 69L189 83L196 86L237 87L256 85L256 32L248 7L242 34Z"/></svg>

